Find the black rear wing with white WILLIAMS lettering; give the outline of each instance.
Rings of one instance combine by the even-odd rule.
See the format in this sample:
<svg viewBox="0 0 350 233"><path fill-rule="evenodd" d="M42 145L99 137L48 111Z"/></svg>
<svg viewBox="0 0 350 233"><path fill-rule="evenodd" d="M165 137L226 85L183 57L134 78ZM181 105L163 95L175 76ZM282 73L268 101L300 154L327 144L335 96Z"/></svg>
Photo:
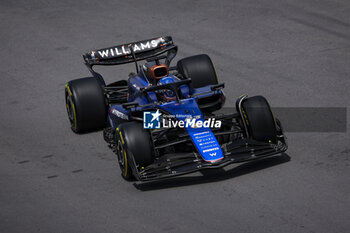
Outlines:
<svg viewBox="0 0 350 233"><path fill-rule="evenodd" d="M174 45L171 36L157 37L93 50L83 54L83 58L86 65L91 68L93 65L120 65L136 62L158 56L165 52L168 52L166 63L169 65L177 52L177 46Z"/></svg>

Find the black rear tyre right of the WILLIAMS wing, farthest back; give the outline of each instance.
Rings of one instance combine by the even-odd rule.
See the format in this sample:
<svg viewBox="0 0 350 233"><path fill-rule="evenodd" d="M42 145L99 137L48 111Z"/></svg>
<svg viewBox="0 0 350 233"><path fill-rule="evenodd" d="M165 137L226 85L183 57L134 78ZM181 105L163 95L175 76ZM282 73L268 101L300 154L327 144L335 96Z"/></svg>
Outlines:
<svg viewBox="0 0 350 233"><path fill-rule="evenodd" d="M179 73L191 79L191 87L199 88L218 84L216 71L210 57L206 54L186 57L177 62Z"/></svg>

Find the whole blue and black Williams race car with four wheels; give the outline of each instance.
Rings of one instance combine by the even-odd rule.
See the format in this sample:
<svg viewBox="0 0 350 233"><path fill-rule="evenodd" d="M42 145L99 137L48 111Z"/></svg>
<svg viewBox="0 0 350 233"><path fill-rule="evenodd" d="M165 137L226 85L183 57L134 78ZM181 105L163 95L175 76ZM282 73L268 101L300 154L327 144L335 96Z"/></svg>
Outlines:
<svg viewBox="0 0 350 233"><path fill-rule="evenodd" d="M71 128L103 129L122 177L149 181L260 159L287 150L286 137L266 99L240 96L236 111L217 114L225 102L208 55L170 66L177 53L170 36L94 50L83 55L92 77L65 88ZM165 55L164 55L165 54ZM139 61L146 60L143 65ZM134 62L136 73L106 85L94 65Z"/></svg>

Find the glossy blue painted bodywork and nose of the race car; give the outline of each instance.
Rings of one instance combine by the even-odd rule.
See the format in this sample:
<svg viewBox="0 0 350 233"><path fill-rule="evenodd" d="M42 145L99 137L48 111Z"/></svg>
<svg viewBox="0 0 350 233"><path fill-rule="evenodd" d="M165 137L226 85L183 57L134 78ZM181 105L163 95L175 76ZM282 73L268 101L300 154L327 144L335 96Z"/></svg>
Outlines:
<svg viewBox="0 0 350 233"><path fill-rule="evenodd" d="M168 77L176 78L171 74L169 74ZM157 98L155 92L147 92L146 94L141 93L140 90L142 88L149 86L152 86L152 84L142 71L138 75L129 78L128 102L137 102L139 105L132 110L125 109L122 104L111 105L108 111L108 117L112 128L116 129L120 123L132 120L132 111L147 111L155 109L173 115L178 120L182 121L185 121L189 115L190 118L192 117L204 121L203 114L196 99L218 94L223 96L221 90L212 91L210 85L201 88L191 88L188 85L182 85L180 86L180 90L185 98L180 99L180 101L161 102ZM197 151L205 161L215 162L223 159L224 155L220 144L210 128L192 128L190 126L186 127L186 124L185 128Z"/></svg>

